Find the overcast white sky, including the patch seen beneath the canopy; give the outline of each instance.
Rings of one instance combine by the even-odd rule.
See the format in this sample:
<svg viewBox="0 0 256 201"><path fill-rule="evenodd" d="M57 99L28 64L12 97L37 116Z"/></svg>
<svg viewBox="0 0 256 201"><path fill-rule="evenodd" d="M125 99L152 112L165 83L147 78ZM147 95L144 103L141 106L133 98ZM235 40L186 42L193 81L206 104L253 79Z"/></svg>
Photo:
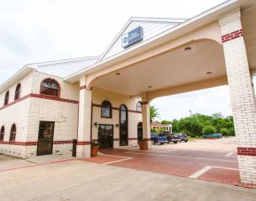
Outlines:
<svg viewBox="0 0 256 201"><path fill-rule="evenodd" d="M223 0L0 0L0 83L29 63L96 56L130 17L191 18ZM227 86L152 101L162 119L230 115Z"/></svg>

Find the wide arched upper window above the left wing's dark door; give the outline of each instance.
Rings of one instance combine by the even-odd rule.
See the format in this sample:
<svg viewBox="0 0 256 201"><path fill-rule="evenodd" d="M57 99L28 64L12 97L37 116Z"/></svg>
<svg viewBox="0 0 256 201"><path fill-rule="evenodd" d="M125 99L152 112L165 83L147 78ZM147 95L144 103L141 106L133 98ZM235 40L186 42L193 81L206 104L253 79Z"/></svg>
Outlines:
<svg viewBox="0 0 256 201"><path fill-rule="evenodd" d="M59 84L53 79L45 79L42 81L40 93L44 95L49 95L52 97L59 97Z"/></svg>

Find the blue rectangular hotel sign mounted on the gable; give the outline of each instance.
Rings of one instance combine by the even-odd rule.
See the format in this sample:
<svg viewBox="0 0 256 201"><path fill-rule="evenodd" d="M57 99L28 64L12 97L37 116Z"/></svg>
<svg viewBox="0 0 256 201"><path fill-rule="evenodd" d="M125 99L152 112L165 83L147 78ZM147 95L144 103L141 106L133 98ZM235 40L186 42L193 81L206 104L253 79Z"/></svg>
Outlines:
<svg viewBox="0 0 256 201"><path fill-rule="evenodd" d="M123 48L128 48L129 46L139 43L144 39L144 29L143 27L136 27L135 29L129 31L127 34L121 37L121 46Z"/></svg>

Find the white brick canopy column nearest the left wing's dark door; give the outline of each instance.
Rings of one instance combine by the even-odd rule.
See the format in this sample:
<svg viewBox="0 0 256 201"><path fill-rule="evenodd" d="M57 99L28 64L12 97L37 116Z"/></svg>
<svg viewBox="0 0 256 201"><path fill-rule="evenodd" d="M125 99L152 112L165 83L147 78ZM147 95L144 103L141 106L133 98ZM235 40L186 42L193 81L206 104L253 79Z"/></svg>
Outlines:
<svg viewBox="0 0 256 201"><path fill-rule="evenodd" d="M77 158L90 158L91 89L87 89L85 78L80 80Z"/></svg>

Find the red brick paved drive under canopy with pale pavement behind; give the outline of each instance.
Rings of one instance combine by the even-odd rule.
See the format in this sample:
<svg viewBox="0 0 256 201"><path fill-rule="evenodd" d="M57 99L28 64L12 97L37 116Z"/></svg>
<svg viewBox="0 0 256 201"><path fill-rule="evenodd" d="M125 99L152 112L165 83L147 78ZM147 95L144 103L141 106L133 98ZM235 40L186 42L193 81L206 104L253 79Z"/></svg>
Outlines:
<svg viewBox="0 0 256 201"><path fill-rule="evenodd" d="M105 155L85 160L110 166L241 185L237 146L233 137L155 145L149 151L132 148L101 150L101 152ZM253 185L246 187L254 188Z"/></svg>

